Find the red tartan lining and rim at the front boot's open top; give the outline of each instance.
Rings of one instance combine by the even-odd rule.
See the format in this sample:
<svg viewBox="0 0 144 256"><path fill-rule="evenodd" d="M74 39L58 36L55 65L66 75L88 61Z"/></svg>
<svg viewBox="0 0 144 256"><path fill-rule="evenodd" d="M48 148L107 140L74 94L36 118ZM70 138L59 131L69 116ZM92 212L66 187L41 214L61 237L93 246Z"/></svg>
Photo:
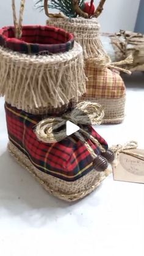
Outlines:
<svg viewBox="0 0 144 256"><path fill-rule="evenodd" d="M74 46L74 36L63 29L49 26L23 26L20 39L14 27L0 30L0 45L25 54L65 53Z"/></svg>

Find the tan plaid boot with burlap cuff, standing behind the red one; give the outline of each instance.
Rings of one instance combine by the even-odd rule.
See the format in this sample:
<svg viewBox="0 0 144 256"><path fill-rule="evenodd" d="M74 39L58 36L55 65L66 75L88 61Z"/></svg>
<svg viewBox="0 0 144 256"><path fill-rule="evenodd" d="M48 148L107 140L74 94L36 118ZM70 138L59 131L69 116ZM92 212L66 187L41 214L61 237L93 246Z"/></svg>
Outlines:
<svg viewBox="0 0 144 256"><path fill-rule="evenodd" d="M70 9L70 4L67 3L71 1L65 1L63 3L65 6L60 9L58 7L60 4L56 4L57 1L52 0L50 1L50 7L63 10L63 13L67 16L62 13L53 15L48 12L47 2L46 0L45 12L49 19L46 23L72 32L76 42L83 48L85 75L88 81L86 84L87 93L81 98L81 101L90 100L101 104L105 113L103 123L122 122L124 119L126 88L117 70L123 70L123 68L115 67L118 64L113 65L104 51L99 37L100 26L95 18L96 15L87 16L87 13L80 9L82 5L79 5L80 7L75 6L74 2L77 1L72 1L72 9ZM79 14L79 17L77 17L77 14Z"/></svg>

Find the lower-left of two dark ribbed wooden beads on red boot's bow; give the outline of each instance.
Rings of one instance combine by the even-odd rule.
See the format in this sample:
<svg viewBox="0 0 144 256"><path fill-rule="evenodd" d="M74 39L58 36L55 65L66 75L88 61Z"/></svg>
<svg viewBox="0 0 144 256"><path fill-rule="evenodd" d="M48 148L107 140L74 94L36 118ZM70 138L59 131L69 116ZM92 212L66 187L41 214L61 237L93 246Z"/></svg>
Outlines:
<svg viewBox="0 0 144 256"><path fill-rule="evenodd" d="M93 160L93 167L98 170L98 172L103 172L104 170L107 169L108 162L107 159L104 158L103 156L97 156Z"/></svg>

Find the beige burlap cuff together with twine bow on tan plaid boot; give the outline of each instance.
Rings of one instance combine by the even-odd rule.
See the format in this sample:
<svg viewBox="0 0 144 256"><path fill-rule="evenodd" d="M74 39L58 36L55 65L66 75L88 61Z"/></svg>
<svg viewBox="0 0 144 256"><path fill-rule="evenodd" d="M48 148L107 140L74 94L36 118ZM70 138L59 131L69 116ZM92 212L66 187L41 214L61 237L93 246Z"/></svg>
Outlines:
<svg viewBox="0 0 144 256"><path fill-rule="evenodd" d="M61 27L75 36L75 40L83 48L84 59L99 69L115 68L131 74L131 71L123 68L133 62L133 57L128 56L121 62L113 62L103 48L99 35L99 23L96 18L50 18L46 21L50 26ZM122 66L122 67L121 67Z"/></svg>

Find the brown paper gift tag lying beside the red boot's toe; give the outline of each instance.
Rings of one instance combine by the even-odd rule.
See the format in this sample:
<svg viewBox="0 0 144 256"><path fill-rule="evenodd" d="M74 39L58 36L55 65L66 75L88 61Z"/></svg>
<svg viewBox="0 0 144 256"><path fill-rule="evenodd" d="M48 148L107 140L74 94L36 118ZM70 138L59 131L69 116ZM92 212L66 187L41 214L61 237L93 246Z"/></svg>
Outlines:
<svg viewBox="0 0 144 256"><path fill-rule="evenodd" d="M117 159L117 166L113 167L113 180L144 183L144 150L132 149L143 156L143 160L126 153L120 153Z"/></svg>

